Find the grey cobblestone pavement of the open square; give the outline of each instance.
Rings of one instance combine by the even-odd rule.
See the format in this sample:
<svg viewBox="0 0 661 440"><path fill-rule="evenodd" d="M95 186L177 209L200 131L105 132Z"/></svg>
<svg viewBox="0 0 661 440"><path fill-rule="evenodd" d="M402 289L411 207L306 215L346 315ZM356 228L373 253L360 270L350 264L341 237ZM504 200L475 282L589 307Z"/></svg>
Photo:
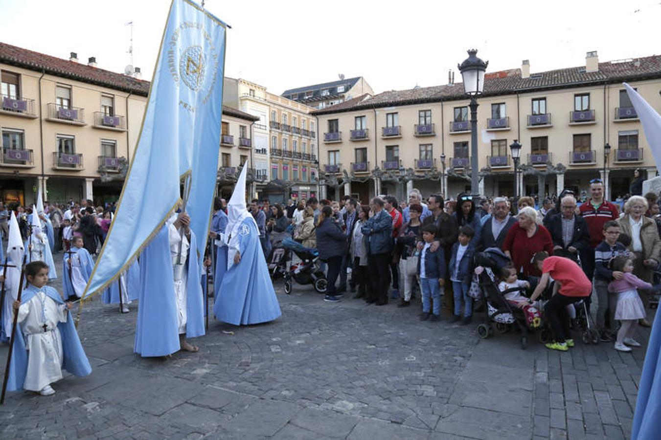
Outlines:
<svg viewBox="0 0 661 440"><path fill-rule="evenodd" d="M199 353L170 359L134 355L136 304L119 314L87 303L79 334L93 373L65 377L51 397L8 394L0 437L630 437L647 331L633 355L580 342L568 353L536 342L524 351L516 334L480 340L475 325L420 322L417 307L350 294L324 303L309 287L276 287L280 319L212 320ZM3 367L6 356L2 346Z"/></svg>

